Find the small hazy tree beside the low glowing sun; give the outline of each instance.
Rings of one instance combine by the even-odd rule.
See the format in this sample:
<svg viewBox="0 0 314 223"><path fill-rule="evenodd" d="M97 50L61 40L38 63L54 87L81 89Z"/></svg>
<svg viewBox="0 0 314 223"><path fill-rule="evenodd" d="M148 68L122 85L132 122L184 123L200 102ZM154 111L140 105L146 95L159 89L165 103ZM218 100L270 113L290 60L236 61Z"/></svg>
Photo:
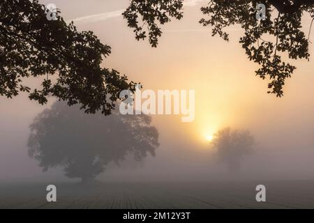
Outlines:
<svg viewBox="0 0 314 223"><path fill-rule="evenodd" d="M248 131L224 128L215 134L211 145L217 150L219 162L230 171L238 171L244 156L253 153L255 140Z"/></svg>

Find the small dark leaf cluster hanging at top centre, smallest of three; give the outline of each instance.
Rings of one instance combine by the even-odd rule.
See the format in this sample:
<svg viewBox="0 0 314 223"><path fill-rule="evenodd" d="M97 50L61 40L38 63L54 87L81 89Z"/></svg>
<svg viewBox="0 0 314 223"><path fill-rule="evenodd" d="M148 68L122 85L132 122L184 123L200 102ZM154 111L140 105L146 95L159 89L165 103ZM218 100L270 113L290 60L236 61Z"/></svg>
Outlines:
<svg viewBox="0 0 314 223"><path fill-rule="evenodd" d="M122 14L128 21L128 26L135 32L137 40L144 40L147 37L152 47L157 47L158 37L162 31L158 24L165 24L171 21L171 17L180 20L183 17L181 11L183 0L131 0L130 6Z"/></svg>

